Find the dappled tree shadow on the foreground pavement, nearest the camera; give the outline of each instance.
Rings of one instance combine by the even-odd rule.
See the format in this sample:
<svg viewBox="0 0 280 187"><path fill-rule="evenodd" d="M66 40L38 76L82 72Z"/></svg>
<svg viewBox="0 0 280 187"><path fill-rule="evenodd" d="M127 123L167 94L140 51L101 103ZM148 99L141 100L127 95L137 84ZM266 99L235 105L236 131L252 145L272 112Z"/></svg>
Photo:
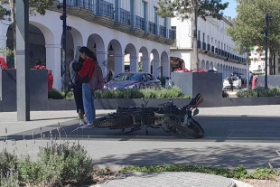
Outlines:
<svg viewBox="0 0 280 187"><path fill-rule="evenodd" d="M275 153L277 146L220 145L190 148L166 148L140 150L133 154L109 154L94 161L107 165L163 165L198 164L210 167L234 168L243 164L247 169L280 166L280 157Z"/></svg>

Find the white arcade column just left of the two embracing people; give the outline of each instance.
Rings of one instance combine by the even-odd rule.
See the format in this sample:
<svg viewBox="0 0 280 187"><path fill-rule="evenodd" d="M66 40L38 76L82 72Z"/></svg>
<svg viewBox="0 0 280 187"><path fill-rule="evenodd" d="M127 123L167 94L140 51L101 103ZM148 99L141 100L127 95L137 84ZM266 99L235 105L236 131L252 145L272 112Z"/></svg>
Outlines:
<svg viewBox="0 0 280 187"><path fill-rule="evenodd" d="M61 45L46 44L46 67L52 70L53 89L61 89Z"/></svg>

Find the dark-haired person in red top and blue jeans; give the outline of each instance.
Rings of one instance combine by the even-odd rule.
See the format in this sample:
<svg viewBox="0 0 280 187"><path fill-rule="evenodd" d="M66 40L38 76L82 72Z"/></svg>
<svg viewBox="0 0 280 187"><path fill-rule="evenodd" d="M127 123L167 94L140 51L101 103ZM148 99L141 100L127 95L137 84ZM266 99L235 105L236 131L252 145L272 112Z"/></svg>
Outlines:
<svg viewBox="0 0 280 187"><path fill-rule="evenodd" d="M79 49L79 55L84 60L83 66L81 70L79 70L78 75L82 79L82 98L88 120L87 126L93 126L93 121L96 118L96 110L94 106L95 95L90 87L89 80L92 78L95 70L97 58L87 47L81 47Z"/></svg>

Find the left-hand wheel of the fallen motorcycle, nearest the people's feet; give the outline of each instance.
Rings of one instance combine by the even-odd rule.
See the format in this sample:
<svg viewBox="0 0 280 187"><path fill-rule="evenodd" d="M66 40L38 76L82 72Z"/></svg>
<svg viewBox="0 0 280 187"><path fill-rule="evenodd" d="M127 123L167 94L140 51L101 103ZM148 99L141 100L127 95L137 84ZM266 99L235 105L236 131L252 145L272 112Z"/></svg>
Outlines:
<svg viewBox="0 0 280 187"><path fill-rule="evenodd" d="M128 115L114 115L108 117L99 117L93 122L97 128L127 128L134 127L133 117Z"/></svg>

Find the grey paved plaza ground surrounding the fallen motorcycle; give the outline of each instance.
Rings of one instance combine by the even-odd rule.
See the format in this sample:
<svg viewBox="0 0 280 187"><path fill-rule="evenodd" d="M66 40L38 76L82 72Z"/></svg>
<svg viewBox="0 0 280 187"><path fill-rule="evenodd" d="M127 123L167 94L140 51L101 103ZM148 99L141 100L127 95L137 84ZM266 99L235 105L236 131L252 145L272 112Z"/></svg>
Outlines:
<svg viewBox="0 0 280 187"><path fill-rule="evenodd" d="M112 111L99 110L98 117ZM59 127L61 141L79 140L89 150L96 167L100 168L151 164L233 168L243 164L248 170L254 170L268 167L268 163L279 167L279 156L275 152L280 142L279 111L280 106L200 108L195 119L205 129L202 139L166 134L161 129L149 129L149 136L145 135L144 129L126 135L120 130L98 128L79 130L70 135L78 125L75 111L32 112L30 122L16 122L15 113L0 113L0 138L8 136L16 140L18 154L33 154L35 158L38 147L50 140L50 131L53 137L59 136ZM42 139L40 126L45 134ZM36 143L31 147L33 137ZM13 148L11 141L8 145Z"/></svg>

